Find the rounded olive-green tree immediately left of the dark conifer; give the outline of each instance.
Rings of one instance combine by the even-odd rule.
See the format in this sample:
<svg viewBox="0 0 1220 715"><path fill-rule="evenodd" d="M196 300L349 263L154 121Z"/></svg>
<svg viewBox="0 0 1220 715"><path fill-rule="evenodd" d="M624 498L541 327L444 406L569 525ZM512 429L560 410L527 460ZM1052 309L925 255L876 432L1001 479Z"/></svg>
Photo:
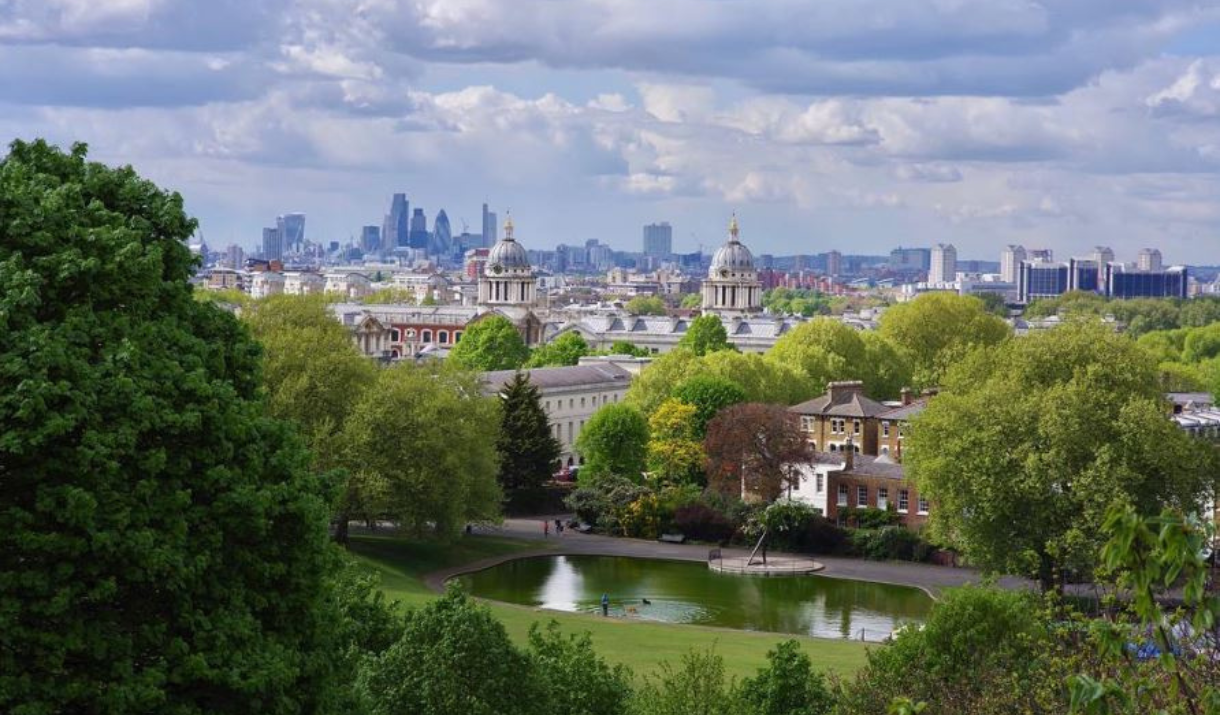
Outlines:
<svg viewBox="0 0 1220 715"><path fill-rule="evenodd" d="M499 428L498 405L475 376L432 365L382 370L343 432L366 516L440 537L497 520Z"/></svg>

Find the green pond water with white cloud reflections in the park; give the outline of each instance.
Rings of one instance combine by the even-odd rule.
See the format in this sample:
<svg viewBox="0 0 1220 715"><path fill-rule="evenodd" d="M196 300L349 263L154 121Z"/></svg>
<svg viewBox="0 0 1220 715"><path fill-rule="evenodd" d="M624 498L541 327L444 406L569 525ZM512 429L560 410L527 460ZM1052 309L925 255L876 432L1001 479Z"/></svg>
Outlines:
<svg viewBox="0 0 1220 715"><path fill-rule="evenodd" d="M481 598L561 611L822 638L878 641L922 621L917 588L821 576L733 576L705 564L620 556L517 559L459 577ZM648 599L650 603L643 603Z"/></svg>

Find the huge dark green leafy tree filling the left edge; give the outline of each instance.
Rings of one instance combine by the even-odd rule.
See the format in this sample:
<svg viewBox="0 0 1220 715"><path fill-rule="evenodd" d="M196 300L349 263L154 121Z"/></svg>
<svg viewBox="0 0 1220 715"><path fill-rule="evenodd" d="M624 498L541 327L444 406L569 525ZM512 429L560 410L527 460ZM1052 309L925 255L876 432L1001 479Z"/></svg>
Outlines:
<svg viewBox="0 0 1220 715"><path fill-rule="evenodd" d="M329 698L326 497L194 228L84 145L0 161L0 711Z"/></svg>

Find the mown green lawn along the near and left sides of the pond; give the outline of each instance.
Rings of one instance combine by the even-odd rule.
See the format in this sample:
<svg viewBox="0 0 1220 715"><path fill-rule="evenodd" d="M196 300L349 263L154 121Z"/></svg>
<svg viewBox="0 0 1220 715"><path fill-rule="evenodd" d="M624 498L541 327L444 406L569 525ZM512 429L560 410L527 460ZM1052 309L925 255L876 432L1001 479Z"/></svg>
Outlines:
<svg viewBox="0 0 1220 715"><path fill-rule="evenodd" d="M537 542L493 537L462 538L448 545L418 543L396 537L353 536L351 538L351 552L381 575L387 595L409 606L434 598L423 584L426 573L488 556L537 549L540 545ZM655 672L661 663L677 661L691 649L714 648L725 659L728 672L743 677L753 675L762 665L770 648L792 638L792 636L700 626L628 622L490 602L488 605L518 643L525 642L531 623L554 620L566 631L588 631L598 653L610 661L627 664L637 675ZM866 647L861 643L822 638L798 639L804 644L814 665L821 670L847 675L865 661Z"/></svg>

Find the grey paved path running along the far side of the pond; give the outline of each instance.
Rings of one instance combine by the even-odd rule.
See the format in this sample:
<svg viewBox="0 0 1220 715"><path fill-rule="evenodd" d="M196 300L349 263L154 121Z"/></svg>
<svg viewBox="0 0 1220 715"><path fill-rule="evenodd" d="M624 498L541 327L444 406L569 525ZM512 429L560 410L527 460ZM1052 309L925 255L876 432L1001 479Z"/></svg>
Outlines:
<svg viewBox="0 0 1220 715"><path fill-rule="evenodd" d="M549 515L533 519L508 519L499 527L478 527L476 534L499 536L505 538L538 542L538 549L528 549L514 554L504 554L482 559L471 564L450 566L425 576L425 583L433 591L443 591L444 583L454 576L482 571L514 559L529 556L558 555L597 555L597 556L636 556L648 559L672 559L677 561L708 560L708 552L714 547L706 544L666 544L643 539L627 539L598 534L583 534L575 531L555 533L555 519L570 515ZM543 536L543 520L550 522L550 534ZM545 542L545 543L543 543ZM749 549L721 549L725 556L748 556ZM771 552L775 553L775 552ZM792 555L778 554L776 555ZM770 555L770 554L769 554ZM966 583L977 583L982 576L972 569L953 569L931 564L911 564L906 561L867 561L864 559L842 559L837 556L817 556L826 567L819 576L830 578L848 578L853 581L875 581L921 588L933 598L943 589ZM1016 577L1004 577L998 581L1004 588L1035 588L1031 581Z"/></svg>

